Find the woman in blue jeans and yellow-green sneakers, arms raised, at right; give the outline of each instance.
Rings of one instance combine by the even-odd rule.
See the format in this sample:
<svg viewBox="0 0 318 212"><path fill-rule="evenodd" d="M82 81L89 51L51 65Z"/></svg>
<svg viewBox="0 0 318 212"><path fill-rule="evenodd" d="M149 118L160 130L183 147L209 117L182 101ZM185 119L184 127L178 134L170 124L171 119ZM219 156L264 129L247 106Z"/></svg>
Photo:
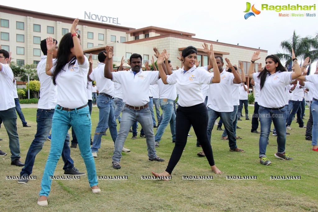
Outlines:
<svg viewBox="0 0 318 212"><path fill-rule="evenodd" d="M266 157L268 136L273 121L277 133L277 153L275 157L282 160L293 160L285 152L286 144L286 108L285 108L285 86L301 76L301 69L292 49L292 60L295 72L287 72L276 55L268 55L265 59L265 67L261 72L254 73L254 63L259 59L260 51L254 52L248 76L259 83L259 158L260 163L267 166L271 161Z"/></svg>

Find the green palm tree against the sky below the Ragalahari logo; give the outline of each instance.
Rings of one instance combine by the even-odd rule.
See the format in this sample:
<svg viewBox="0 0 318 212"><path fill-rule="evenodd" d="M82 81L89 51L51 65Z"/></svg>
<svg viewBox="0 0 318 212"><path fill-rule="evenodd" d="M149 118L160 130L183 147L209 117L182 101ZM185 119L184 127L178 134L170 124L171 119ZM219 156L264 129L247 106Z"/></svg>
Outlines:
<svg viewBox="0 0 318 212"><path fill-rule="evenodd" d="M284 40L280 43L280 47L287 53L277 52L276 55L280 59L286 60L286 68L292 61L292 48L298 59L304 60L309 57L312 62L318 60L318 34L316 37L306 36L305 38L301 38L294 31L293 36L289 40Z"/></svg>

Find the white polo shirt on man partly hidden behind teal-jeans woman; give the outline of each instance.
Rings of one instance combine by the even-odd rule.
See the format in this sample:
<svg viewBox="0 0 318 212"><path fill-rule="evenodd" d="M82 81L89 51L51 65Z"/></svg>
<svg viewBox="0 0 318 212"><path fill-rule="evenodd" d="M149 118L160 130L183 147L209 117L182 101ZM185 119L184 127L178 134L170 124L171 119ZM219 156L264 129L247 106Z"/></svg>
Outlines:
<svg viewBox="0 0 318 212"><path fill-rule="evenodd" d="M38 63L37 72L40 80L40 99L38 101L38 109L50 110L54 109L57 102L57 87L53 85L52 76L45 72L46 55L41 56ZM55 59L53 59L54 64Z"/></svg>

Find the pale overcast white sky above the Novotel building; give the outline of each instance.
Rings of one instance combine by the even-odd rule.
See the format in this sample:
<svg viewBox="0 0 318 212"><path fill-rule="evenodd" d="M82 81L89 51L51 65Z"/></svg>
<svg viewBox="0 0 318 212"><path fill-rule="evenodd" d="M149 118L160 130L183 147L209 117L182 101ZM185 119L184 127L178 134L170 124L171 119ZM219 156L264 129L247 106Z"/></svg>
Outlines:
<svg viewBox="0 0 318 212"><path fill-rule="evenodd" d="M160 2L160 3L159 3ZM244 18L246 2L254 4L258 15ZM120 26L143 28L162 27L196 34L194 38L239 44L267 50L268 54L283 52L280 42L291 38L293 31L301 37L315 36L318 33L318 2L315 0L237 0L237 1L93 1L87 4L80 1L32 0L32 3L15 0L2 5L17 7L65 17L84 19L85 11L91 14L118 18ZM316 10L262 10L262 5L273 6L316 5ZM18 5L18 6L17 6ZM70 9L73 8L73 9ZM252 12L249 10L249 12ZM315 14L315 17L279 17L280 13ZM316 62L314 63L314 65ZM315 66L314 66L315 67Z"/></svg>

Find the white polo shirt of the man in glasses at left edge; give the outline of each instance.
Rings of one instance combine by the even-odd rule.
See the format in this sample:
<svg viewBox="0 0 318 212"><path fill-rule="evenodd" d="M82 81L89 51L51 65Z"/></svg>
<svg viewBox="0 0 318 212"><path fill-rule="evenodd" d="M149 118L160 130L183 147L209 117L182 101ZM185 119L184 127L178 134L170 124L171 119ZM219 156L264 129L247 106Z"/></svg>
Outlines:
<svg viewBox="0 0 318 212"><path fill-rule="evenodd" d="M2 64L0 70L0 111L8 110L15 107L12 86L13 86L13 72L8 64Z"/></svg>

